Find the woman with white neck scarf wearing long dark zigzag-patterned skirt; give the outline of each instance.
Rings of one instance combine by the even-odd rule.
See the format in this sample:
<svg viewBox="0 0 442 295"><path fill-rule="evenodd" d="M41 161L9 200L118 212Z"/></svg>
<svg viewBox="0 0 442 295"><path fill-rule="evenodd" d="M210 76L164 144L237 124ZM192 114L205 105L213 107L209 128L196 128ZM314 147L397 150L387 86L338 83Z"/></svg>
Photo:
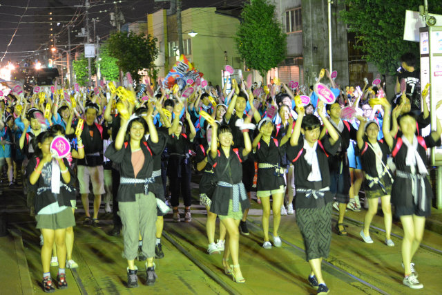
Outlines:
<svg viewBox="0 0 442 295"><path fill-rule="evenodd" d="M297 108L298 120L291 135L287 156L295 167L296 223L304 240L307 261L311 267L309 283L318 294L327 294L321 263L329 255L332 240L331 220L333 195L330 193L328 173L329 155L334 155L340 146L339 133L323 113L324 104L318 102L318 114L328 129L322 140L320 121L315 115L304 116L304 109ZM303 136L300 136L302 133Z"/></svg>

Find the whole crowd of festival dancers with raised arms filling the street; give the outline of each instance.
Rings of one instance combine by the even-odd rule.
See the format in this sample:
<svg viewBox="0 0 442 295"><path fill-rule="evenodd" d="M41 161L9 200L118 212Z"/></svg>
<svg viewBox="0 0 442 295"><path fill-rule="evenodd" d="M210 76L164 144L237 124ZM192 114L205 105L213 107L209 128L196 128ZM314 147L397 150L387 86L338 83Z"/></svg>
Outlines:
<svg viewBox="0 0 442 295"><path fill-rule="evenodd" d="M252 191L262 205L262 247L281 247L281 216L296 213L311 266L308 281L318 294L327 294L321 263L329 255L332 208L339 212L336 234L347 236L345 211L361 211L363 189L361 239L373 242L369 225L381 200L385 245L395 246L393 204L404 231L403 283L422 288L412 258L430 215L426 151L441 145L442 129L436 120L436 130L421 136L430 124L427 93L410 84L414 78L407 82L415 75L416 58L407 54L401 62L398 95L390 100L381 83L340 90L327 70L317 80L327 78L336 96L327 103L313 87L307 93L306 87L291 88L278 79L263 87L232 79L229 90L227 84L193 86L189 97L183 92L191 85L159 86L156 93L140 95L131 85L10 93L0 100L0 173L7 166L10 185L23 177L30 214L41 231L44 291L66 288L65 268L78 267L72 257L77 196L85 211L81 222L92 227L100 226L104 196L106 212L113 212L109 234L122 232L127 286L138 286L135 259L146 260L146 284L153 285L154 258L164 257L163 216L169 206L173 221L181 222L182 196L184 222L192 220L193 173L201 177L208 254L223 253L224 272L236 283L245 282L239 240L249 234ZM299 95L310 102L300 103ZM53 151L60 136L70 144L64 158ZM59 266L56 284L51 265Z"/></svg>

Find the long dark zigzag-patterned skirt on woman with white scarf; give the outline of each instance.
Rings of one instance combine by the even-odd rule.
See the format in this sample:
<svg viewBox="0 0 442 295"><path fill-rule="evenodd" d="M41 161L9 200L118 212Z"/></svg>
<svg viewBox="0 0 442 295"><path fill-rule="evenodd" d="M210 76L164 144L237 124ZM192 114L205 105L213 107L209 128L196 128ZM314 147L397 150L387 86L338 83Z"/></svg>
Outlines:
<svg viewBox="0 0 442 295"><path fill-rule="evenodd" d="M332 241L332 202L319 208L297 208L296 223L304 240L306 260L327 258Z"/></svg>

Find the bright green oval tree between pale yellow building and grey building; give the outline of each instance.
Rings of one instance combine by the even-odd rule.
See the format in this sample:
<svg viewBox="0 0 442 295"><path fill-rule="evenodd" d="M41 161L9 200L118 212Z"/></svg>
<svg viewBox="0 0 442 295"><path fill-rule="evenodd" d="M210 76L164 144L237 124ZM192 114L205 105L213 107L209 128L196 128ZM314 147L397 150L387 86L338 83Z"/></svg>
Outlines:
<svg viewBox="0 0 442 295"><path fill-rule="evenodd" d="M262 77L285 59L287 35L275 18L275 6L268 0L253 0L241 13L242 22L236 32L238 51L247 66Z"/></svg>

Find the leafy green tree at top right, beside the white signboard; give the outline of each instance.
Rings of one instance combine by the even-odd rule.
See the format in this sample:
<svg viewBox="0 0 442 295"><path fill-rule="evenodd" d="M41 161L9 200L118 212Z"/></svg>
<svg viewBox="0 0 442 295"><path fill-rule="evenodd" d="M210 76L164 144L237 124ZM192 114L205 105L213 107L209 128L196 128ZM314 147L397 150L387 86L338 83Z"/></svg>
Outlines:
<svg viewBox="0 0 442 295"><path fill-rule="evenodd" d="M419 43L403 40L405 10L419 11L421 0L342 0L348 10L340 19L356 33L356 48L364 58L376 65L381 73L394 73L403 53L419 57ZM440 14L440 0L428 0L430 13ZM439 5L438 5L439 4Z"/></svg>

